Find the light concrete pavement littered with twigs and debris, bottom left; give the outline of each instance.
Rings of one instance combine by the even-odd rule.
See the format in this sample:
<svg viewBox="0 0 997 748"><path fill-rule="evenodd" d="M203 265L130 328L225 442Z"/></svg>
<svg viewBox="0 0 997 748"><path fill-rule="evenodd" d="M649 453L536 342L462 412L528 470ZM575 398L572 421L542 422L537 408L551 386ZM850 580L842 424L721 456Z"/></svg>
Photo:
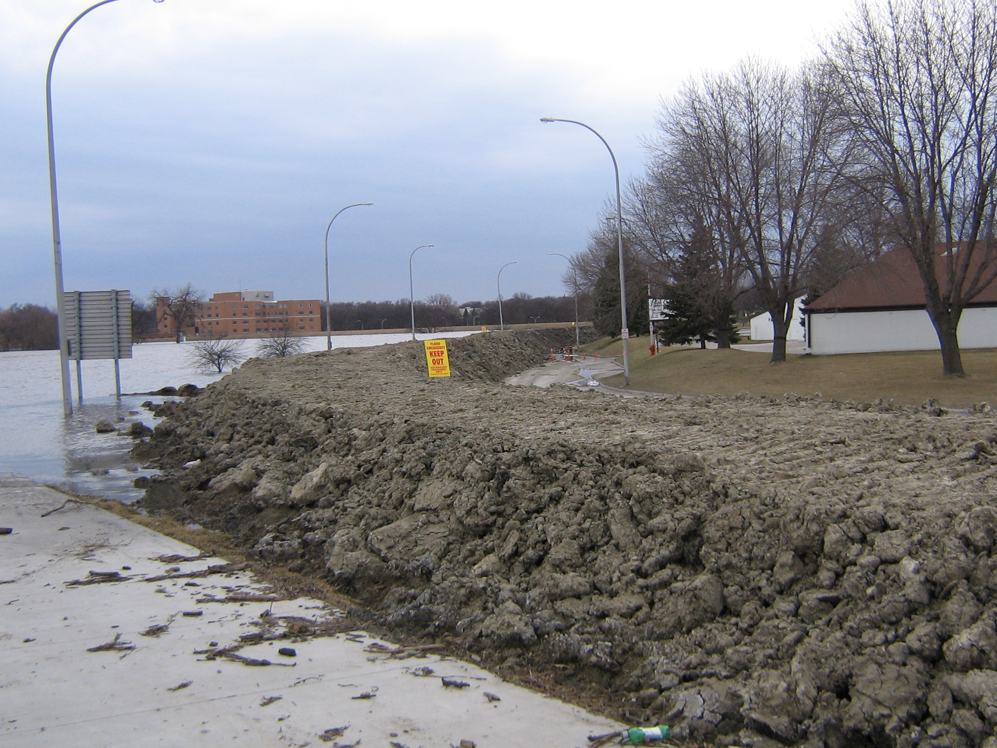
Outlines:
<svg viewBox="0 0 997 748"><path fill-rule="evenodd" d="M221 559L160 561L198 552L89 505L41 516L68 498L0 478L0 527L13 529L0 536L0 748L553 748L622 729L466 662L393 658L362 632L309 635L340 613L266 599L248 573L208 568ZM211 572L176 575L198 570ZM214 654L231 644L234 658Z"/></svg>

